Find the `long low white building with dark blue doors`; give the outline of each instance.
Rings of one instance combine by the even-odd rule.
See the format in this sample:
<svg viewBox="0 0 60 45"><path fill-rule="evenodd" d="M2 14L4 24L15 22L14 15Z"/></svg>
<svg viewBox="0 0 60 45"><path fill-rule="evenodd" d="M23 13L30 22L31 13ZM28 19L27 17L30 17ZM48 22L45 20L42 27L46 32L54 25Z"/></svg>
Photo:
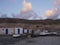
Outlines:
<svg viewBox="0 0 60 45"><path fill-rule="evenodd" d="M27 34L27 32L28 30L23 28L0 28L0 35Z"/></svg>

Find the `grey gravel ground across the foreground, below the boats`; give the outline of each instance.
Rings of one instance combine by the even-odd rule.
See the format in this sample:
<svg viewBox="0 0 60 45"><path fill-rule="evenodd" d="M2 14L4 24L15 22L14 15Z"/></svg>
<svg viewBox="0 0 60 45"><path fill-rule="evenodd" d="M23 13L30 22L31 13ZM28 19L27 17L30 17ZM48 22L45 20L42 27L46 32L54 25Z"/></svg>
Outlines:
<svg viewBox="0 0 60 45"><path fill-rule="evenodd" d="M60 36L40 36L30 39L0 36L0 45L60 45Z"/></svg>

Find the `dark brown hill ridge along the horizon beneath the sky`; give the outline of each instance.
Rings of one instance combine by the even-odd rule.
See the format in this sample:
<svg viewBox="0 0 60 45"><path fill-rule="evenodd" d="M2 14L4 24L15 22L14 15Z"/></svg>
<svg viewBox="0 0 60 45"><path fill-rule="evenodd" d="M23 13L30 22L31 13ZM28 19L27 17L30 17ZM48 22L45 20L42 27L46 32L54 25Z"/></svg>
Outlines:
<svg viewBox="0 0 60 45"><path fill-rule="evenodd" d="M0 18L0 23L27 23L27 24L60 24L60 19L52 20L26 20L26 19L19 19L19 18Z"/></svg>

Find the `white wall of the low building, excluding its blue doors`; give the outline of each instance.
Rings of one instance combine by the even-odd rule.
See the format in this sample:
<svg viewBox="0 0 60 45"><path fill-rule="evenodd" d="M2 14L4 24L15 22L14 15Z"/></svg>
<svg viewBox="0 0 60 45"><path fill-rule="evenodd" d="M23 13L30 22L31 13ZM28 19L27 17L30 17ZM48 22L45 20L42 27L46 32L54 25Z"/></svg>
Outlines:
<svg viewBox="0 0 60 45"><path fill-rule="evenodd" d="M20 34L23 34L23 28L0 28L0 34L6 34L6 29L8 29L8 34L18 34L18 29L20 29ZM27 29L24 29L24 33L27 33ZM31 30L29 30L31 33Z"/></svg>

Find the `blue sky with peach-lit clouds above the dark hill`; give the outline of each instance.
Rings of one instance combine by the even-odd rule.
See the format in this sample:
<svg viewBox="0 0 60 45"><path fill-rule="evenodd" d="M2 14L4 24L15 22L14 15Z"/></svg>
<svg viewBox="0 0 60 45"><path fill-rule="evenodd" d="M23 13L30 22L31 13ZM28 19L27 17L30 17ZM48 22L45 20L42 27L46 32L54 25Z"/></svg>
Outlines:
<svg viewBox="0 0 60 45"><path fill-rule="evenodd" d="M31 10L37 14L36 19L60 19L60 0L0 0L0 16L19 17L21 11L25 14Z"/></svg>

